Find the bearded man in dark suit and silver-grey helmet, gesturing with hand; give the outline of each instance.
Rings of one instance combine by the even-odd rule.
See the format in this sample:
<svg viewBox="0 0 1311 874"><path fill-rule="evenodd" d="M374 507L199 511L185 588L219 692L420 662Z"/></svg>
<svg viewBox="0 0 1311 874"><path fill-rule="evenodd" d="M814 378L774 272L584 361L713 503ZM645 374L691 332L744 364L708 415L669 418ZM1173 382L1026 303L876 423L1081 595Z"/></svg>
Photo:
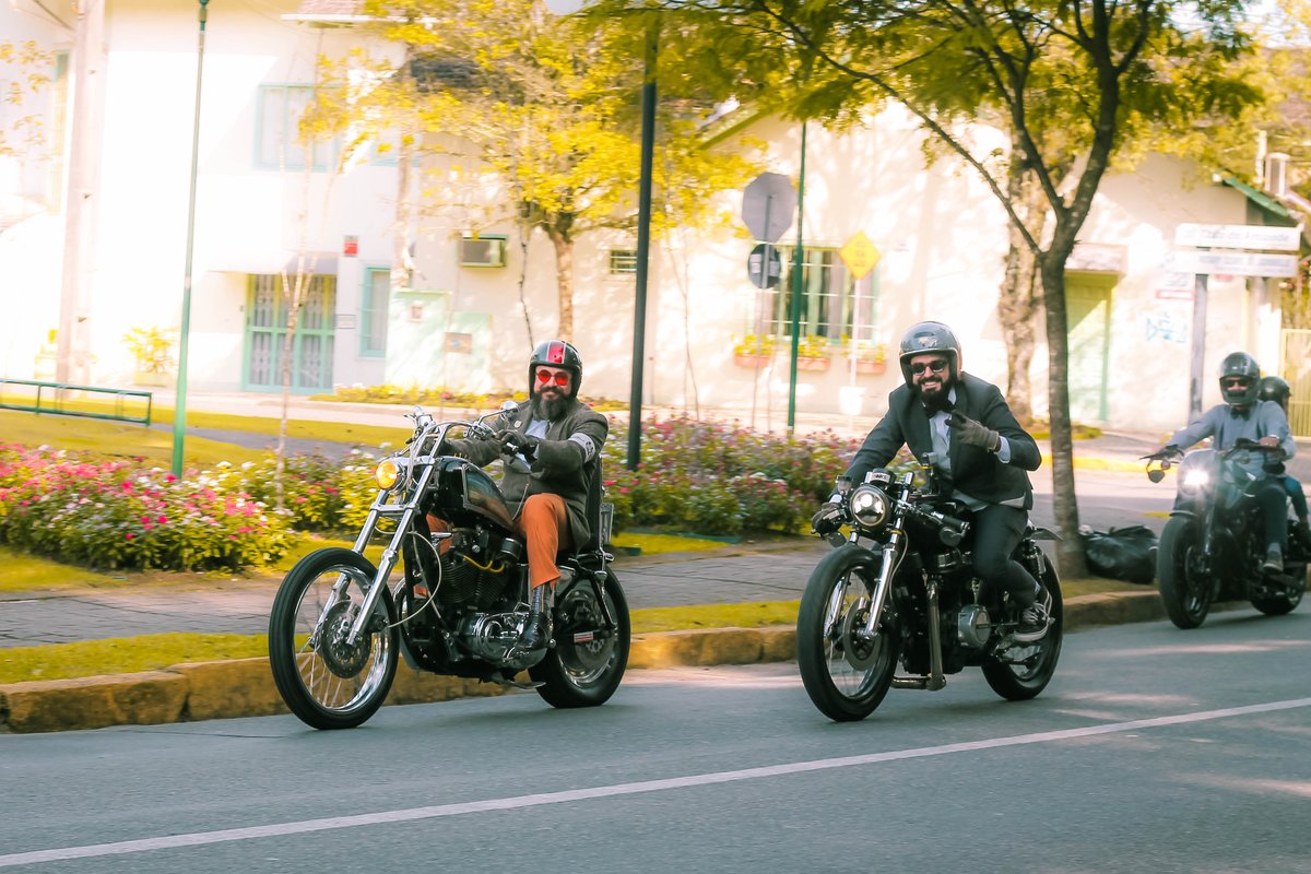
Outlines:
<svg viewBox="0 0 1311 874"><path fill-rule="evenodd" d="M844 477L863 482L910 447L937 473L943 493L974 511L974 570L985 583L1009 592L1020 609L1015 639L1042 638L1051 624L1051 596L1011 554L1033 508L1025 470L1042 463L1038 446L1011 413L1000 389L961 370L961 343L947 325L912 325L901 341L906 384L888 396L888 414L865 438ZM840 491L819 507L819 533L840 523Z"/></svg>

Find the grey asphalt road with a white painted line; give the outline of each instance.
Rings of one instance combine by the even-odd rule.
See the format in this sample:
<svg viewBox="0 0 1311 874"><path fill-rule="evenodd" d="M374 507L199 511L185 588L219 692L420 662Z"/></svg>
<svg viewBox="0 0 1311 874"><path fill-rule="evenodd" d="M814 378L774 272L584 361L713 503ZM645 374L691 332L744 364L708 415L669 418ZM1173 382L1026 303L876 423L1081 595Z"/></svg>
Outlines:
<svg viewBox="0 0 1311 874"><path fill-rule="evenodd" d="M1008 704L977 671L835 725L794 664L535 694L0 736L0 869L1304 873L1311 612L1071 634ZM71 849L69 849L71 848Z"/></svg>

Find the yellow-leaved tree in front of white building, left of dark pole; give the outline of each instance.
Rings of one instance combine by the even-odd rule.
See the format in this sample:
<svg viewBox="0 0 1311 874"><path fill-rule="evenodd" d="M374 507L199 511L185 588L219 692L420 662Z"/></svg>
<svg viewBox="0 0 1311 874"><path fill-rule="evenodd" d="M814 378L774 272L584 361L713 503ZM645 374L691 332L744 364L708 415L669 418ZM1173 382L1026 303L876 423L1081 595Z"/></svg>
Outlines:
<svg viewBox="0 0 1311 874"><path fill-rule="evenodd" d="M392 76L393 62L347 59L338 109L350 111L340 117L382 131L396 114L359 124L361 109L384 105L384 89L388 106L412 101L402 136L438 159L422 208L458 212L475 233L505 221L541 231L556 257L557 330L570 338L576 241L635 227L641 71L627 34L555 16L540 0L370 0L366 12L368 28L412 60ZM707 152L688 109L665 102L659 114L659 164L669 168L661 212L673 223L700 220L713 194L688 181L737 187L755 170L734 153Z"/></svg>

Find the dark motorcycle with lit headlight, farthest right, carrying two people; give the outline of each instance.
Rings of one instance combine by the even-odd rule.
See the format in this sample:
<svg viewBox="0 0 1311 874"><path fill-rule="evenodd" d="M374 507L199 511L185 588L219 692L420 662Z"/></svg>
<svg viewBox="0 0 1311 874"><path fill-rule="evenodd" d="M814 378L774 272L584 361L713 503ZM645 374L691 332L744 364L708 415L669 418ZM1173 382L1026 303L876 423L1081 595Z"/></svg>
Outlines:
<svg viewBox="0 0 1311 874"><path fill-rule="evenodd" d="M1290 536L1283 573L1262 569L1264 523L1255 493L1264 473L1249 469L1278 463L1280 447L1240 439L1228 449L1193 449L1179 463L1175 508L1156 550L1156 584L1165 615L1177 628L1197 628L1217 600L1247 600L1268 616L1282 616L1302 601L1307 553ZM1160 482L1179 455L1145 455L1147 478ZM1290 520L1290 528L1293 522Z"/></svg>

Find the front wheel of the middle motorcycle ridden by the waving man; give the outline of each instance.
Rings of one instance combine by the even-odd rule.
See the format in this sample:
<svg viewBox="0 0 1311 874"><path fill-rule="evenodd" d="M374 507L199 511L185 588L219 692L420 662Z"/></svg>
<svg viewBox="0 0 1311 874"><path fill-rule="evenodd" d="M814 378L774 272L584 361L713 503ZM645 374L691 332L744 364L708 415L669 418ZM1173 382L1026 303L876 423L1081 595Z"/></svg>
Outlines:
<svg viewBox="0 0 1311 874"><path fill-rule="evenodd" d="M901 634L880 618L864 636L880 556L843 546L810 574L797 612L797 664L810 700L830 719L864 719L882 704L897 670Z"/></svg>

